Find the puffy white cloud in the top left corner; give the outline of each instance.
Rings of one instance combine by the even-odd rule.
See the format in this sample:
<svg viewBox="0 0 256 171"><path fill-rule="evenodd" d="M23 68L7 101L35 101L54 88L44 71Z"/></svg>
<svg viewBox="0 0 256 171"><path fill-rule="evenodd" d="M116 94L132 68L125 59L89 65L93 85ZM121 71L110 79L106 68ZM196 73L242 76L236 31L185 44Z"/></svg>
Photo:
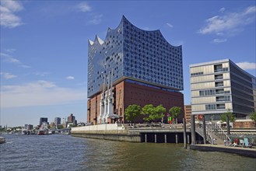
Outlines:
<svg viewBox="0 0 256 171"><path fill-rule="evenodd" d="M17 1L1 1L0 5L0 23L7 28L15 28L23 24L22 19L14 13L23 10L23 5Z"/></svg>

